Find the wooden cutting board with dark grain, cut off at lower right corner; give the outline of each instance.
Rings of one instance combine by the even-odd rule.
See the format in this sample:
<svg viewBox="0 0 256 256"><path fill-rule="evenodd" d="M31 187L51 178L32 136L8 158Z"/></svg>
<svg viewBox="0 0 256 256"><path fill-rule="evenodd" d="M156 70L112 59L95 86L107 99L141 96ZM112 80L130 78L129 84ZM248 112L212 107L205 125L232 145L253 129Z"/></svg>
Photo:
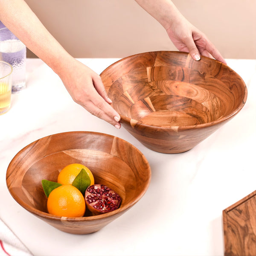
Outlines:
<svg viewBox="0 0 256 256"><path fill-rule="evenodd" d="M256 191L222 212L225 256L256 256Z"/></svg>

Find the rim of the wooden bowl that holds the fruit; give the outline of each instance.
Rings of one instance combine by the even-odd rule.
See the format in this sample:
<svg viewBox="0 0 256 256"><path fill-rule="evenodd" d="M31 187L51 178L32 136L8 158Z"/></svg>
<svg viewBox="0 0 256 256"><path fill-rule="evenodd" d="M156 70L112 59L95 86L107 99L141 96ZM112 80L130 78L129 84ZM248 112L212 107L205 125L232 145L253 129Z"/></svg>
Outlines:
<svg viewBox="0 0 256 256"><path fill-rule="evenodd" d="M113 135L110 135L110 134L105 134L105 133L100 133L100 132L94 132L94 131L68 131L68 132L62 132L62 133L56 133L56 134L52 134L52 135L48 135L48 136L45 136L45 137L41 137L40 139L38 140L41 140L41 139L44 139L44 138L47 138L47 137L51 137L51 136L56 136L56 135L61 135L61 134L77 134L77 133L84 133L84 134L97 134L97 135L100 135L100 136L103 136L103 137L112 137L112 138L116 138L118 140L121 140L123 143L125 144L128 144L130 147L134 148L135 151L137 151L142 157L143 159L145 160L145 165L147 166L147 171L148 171L148 180L145 182L145 187L144 189L142 190L142 192L140 192L140 195L138 195L138 197L129 202L129 204L126 204L124 206L121 205L121 207L119 207L118 209L112 211L112 212L107 212L107 213L104 213L104 214L100 214L100 215L94 215L94 216L84 216L84 217L61 217L61 216L57 216L57 215L52 215L52 214L49 214L47 212L43 212L43 211L40 211L34 207L31 207L29 206L28 204L24 203L23 201L21 201L19 198L17 198L16 194L13 194L10 190L9 190L9 186L7 184L7 188L9 190L9 193L12 195L12 197L15 199L15 201L20 204L20 206L22 206L24 209L26 209L27 211L31 212L32 214L34 215L37 215L37 216L41 216L43 218L47 218L49 220L58 220L58 221L61 221L63 219L67 220L67 221L94 221L94 220L100 220L100 219L105 219L105 218L108 218L108 217L111 217L111 216L114 216L114 215L118 215L122 212L125 212L126 210L128 210L129 208L131 208L134 204L136 204L138 201L140 201L140 199L143 197L143 195L145 194L145 192L147 191L148 189L148 186L150 184L150 181L151 181L151 168L150 168L150 165L148 163L148 160L146 159L146 157L144 156L144 154L138 149L136 148L134 145L132 145L131 143L129 143L128 141L126 140L123 140L119 137L116 137L116 136L113 136ZM33 143L36 143L38 140L35 140L33 141L32 143L29 143L28 145L26 145L25 147L23 147L20 151L17 152L17 154L12 158L11 162L9 163L9 166L11 165L12 161L15 161L16 158L19 157L19 155L22 153L22 151L24 149L26 149L27 147L29 147L30 145L32 145ZM7 181L7 176L9 174L9 172L11 172L11 170L9 169L9 166L7 168L7 171L6 171L6 181Z"/></svg>

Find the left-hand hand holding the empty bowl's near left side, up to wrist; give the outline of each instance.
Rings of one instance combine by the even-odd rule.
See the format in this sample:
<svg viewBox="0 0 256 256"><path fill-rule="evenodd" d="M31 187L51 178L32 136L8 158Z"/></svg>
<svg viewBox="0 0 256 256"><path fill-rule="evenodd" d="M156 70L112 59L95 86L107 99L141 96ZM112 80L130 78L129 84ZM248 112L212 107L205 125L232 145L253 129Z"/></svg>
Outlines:
<svg viewBox="0 0 256 256"><path fill-rule="evenodd" d="M76 103L117 129L121 127L120 116L111 107L111 99L108 98L101 77L97 73L73 59L69 67L58 75Z"/></svg>

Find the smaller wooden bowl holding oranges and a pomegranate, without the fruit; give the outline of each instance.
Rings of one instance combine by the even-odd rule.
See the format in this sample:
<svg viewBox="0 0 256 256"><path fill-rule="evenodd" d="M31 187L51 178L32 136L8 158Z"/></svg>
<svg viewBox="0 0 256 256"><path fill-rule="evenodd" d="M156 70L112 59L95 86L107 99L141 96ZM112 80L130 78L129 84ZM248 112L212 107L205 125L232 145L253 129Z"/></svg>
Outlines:
<svg viewBox="0 0 256 256"><path fill-rule="evenodd" d="M47 213L41 180L57 182L58 173L70 163L87 166L95 183L116 191L122 198L119 209L97 216L86 212L80 218ZM22 207L73 234L93 233L122 215L142 198L150 179L148 161L133 145L118 137L85 131L54 134L27 145L15 155L6 173L9 192Z"/></svg>

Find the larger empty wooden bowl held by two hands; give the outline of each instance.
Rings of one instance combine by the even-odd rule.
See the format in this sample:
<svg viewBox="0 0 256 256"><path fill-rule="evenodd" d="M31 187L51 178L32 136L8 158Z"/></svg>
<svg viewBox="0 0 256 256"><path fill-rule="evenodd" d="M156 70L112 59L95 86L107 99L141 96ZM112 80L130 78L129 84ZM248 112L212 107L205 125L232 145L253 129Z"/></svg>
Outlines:
<svg viewBox="0 0 256 256"><path fill-rule="evenodd" d="M243 108L247 88L230 67L184 52L145 52L101 73L122 126L162 153L193 148Z"/></svg>

